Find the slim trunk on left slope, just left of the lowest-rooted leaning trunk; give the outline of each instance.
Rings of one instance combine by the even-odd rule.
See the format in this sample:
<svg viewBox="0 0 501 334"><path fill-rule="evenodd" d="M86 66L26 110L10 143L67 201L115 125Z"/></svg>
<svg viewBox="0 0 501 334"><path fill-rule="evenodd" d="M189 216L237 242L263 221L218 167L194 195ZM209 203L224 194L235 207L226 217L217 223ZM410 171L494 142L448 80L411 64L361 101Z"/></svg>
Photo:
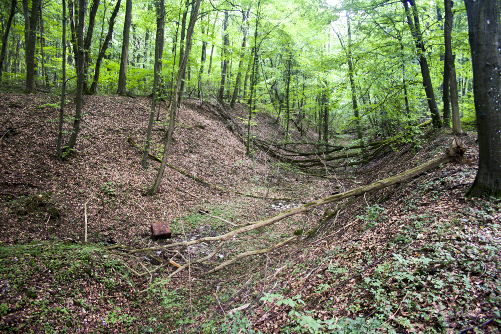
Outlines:
<svg viewBox="0 0 501 334"><path fill-rule="evenodd" d="M146 145L144 148L143 159L141 160L141 165L146 167L146 161L148 160L148 153L150 149L151 140L151 129L153 128L153 120L155 119L155 106L157 100L157 87L160 81L160 74L162 72L162 54L163 54L163 35L164 35L164 25L165 25L165 6L164 0L158 0L155 2L156 14L157 14L157 30L155 36L155 65L154 65L154 79L153 79L153 91L151 93L151 113L150 120L148 122L148 130L146 132Z"/></svg>

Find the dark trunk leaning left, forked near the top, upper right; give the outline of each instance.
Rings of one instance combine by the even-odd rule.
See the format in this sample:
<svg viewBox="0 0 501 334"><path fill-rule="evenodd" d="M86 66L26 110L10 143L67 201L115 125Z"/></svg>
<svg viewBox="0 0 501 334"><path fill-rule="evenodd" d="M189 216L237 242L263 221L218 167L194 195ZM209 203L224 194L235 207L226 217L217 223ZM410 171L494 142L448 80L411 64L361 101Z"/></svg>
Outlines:
<svg viewBox="0 0 501 334"><path fill-rule="evenodd" d="M412 17L414 18L414 21L412 21L411 19L411 13L407 2L412 7ZM430 70L428 68L426 49L424 48L421 28L419 26L419 17L417 16L416 3L415 0L402 0L402 3L404 5L405 14L407 15L407 24L409 25L412 37L414 38L414 43L419 52L419 66L421 67L424 92L426 93L428 108L430 109L431 118L433 119L433 126L435 128L440 128L442 126L442 120L440 118L440 113L438 112L437 102L435 100L435 92L433 91L433 85L431 83Z"/></svg>

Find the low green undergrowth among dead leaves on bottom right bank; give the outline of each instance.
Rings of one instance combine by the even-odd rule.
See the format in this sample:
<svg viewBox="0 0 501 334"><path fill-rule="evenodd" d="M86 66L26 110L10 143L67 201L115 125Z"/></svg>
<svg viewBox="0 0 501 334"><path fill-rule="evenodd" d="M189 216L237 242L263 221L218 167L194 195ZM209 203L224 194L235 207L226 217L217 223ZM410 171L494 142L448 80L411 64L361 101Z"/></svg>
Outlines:
<svg viewBox="0 0 501 334"><path fill-rule="evenodd" d="M423 184L417 191L433 197L435 186ZM299 278L305 289L289 286L261 298L264 310L286 306L281 332L454 333L470 326L478 327L469 332L499 332L501 202L474 200L450 212L418 210L416 202L403 201L405 219L392 222L382 249L359 240L296 263L292 277L323 270ZM384 212L382 206L367 207L358 216L363 233L381 233Z"/></svg>

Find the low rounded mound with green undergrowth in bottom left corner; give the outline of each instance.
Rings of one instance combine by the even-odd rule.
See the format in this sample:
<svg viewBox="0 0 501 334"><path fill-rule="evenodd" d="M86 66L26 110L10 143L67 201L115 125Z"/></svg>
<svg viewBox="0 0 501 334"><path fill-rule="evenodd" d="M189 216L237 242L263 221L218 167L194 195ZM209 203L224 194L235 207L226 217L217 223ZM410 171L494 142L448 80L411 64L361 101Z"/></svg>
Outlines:
<svg viewBox="0 0 501 334"><path fill-rule="evenodd" d="M131 324L119 299L138 303L131 274L120 258L75 243L0 245L0 331L96 332ZM139 314L139 313L138 313Z"/></svg>

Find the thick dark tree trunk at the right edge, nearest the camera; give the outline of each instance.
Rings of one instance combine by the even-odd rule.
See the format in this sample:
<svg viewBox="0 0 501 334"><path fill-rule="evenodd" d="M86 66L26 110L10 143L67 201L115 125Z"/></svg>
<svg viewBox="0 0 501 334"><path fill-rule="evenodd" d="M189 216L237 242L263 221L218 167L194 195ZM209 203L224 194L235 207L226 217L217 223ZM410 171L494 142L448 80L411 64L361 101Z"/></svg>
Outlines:
<svg viewBox="0 0 501 334"><path fill-rule="evenodd" d="M498 1L465 0L478 128L478 172L467 197L501 197L501 23Z"/></svg>

